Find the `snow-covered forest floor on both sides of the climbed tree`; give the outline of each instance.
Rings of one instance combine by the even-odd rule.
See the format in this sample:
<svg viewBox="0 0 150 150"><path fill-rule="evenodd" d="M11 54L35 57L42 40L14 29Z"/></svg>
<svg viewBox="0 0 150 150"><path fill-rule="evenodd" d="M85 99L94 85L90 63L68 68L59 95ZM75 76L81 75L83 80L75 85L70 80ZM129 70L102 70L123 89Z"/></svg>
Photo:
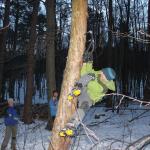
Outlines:
<svg viewBox="0 0 150 150"><path fill-rule="evenodd" d="M126 110L120 110L119 114L111 110L105 111L106 109L105 107L90 109L84 123L95 132L95 137L90 136L91 131L86 130L85 133L83 127L80 127L79 135L72 140L71 150L125 150L130 143L150 133L149 108L131 105ZM141 113L143 114L140 115ZM99 114L100 118L95 119L95 114ZM140 117L136 117L139 115ZM0 119L0 122L2 123L3 119ZM18 150L46 150L51 133L45 130L45 126L44 121L36 120L32 125L20 122L17 136ZM4 129L4 124L0 124L0 143L3 140ZM150 146L145 150L150 150Z"/></svg>

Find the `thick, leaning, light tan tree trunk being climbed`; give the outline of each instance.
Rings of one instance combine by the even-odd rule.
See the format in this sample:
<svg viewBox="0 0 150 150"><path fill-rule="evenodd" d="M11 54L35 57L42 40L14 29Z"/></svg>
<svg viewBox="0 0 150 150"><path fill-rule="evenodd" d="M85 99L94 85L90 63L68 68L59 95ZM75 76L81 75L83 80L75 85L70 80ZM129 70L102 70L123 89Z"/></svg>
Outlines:
<svg viewBox="0 0 150 150"><path fill-rule="evenodd" d="M75 105L67 101L67 96L80 76L80 64L85 49L85 33L87 32L87 0L73 0L72 7L70 48L49 150L67 150L70 144L69 138L59 137L58 133L75 112Z"/></svg>

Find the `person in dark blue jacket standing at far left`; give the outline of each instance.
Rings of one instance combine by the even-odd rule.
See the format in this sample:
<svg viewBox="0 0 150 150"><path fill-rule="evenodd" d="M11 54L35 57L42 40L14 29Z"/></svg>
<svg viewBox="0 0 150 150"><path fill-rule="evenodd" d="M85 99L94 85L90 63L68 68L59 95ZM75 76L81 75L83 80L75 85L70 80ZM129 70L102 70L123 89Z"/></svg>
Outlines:
<svg viewBox="0 0 150 150"><path fill-rule="evenodd" d="M8 99L8 108L6 109L6 114L4 118L6 131L5 131L5 137L2 142L1 150L5 150L8 142L11 139L11 149L16 150L16 135L17 135L17 124L18 124L18 118L17 118L17 112L14 108L14 100L12 98Z"/></svg>

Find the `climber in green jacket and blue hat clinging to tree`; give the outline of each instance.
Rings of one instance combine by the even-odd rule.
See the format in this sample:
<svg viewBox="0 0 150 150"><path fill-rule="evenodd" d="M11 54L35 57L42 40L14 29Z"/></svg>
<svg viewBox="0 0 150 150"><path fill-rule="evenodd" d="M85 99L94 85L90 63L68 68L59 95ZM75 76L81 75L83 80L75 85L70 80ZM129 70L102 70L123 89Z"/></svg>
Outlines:
<svg viewBox="0 0 150 150"><path fill-rule="evenodd" d="M87 53L88 54L88 53ZM87 55L86 54L86 55ZM60 136L74 136L75 130L84 118L87 110L96 102L102 101L108 90L115 91L114 79L116 73L112 68L103 68L100 71L93 69L93 61L84 56L81 78L68 95L68 100L73 102L78 96L78 108L66 127L60 131Z"/></svg>

